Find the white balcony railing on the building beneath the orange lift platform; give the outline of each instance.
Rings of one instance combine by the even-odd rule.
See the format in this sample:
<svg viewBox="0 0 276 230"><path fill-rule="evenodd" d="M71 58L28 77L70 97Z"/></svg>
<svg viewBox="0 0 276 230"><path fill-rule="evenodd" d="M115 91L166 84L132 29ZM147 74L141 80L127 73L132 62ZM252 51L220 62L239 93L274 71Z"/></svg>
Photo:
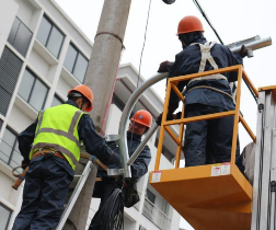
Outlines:
<svg viewBox="0 0 276 230"><path fill-rule="evenodd" d="M170 229L171 227L170 218L163 211L161 211L154 204L152 204L148 198L145 198L142 214L161 230Z"/></svg>

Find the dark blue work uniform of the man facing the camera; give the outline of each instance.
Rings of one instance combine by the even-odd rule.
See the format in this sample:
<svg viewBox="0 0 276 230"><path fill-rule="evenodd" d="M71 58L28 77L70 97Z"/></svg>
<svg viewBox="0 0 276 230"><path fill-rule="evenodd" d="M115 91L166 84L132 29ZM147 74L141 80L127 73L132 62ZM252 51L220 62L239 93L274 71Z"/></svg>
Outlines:
<svg viewBox="0 0 276 230"><path fill-rule="evenodd" d="M135 150L138 148L140 143L141 143L141 136L127 131L127 146L129 157L135 152ZM118 146L114 143L113 146L110 147L113 150L113 157L105 165L108 169L122 169ZM133 165L130 166L133 179L139 180L148 172L148 165L150 163L150 160L151 160L150 149L148 146L146 146L138 156L138 158L135 160ZM102 227L101 215L103 215L101 214L101 210L106 200L113 194L114 189L118 187L114 179L107 176L106 171L104 171L102 168L99 168L97 170L97 177L102 177L103 181L95 183L93 197L101 198L101 204L90 223L89 227L90 230L101 230Z"/></svg>

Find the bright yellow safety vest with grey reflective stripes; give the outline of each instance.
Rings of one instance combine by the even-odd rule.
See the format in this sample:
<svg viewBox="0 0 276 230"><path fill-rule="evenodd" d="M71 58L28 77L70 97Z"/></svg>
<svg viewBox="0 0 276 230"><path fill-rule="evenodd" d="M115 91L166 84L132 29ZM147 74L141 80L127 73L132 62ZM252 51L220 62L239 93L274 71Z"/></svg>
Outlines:
<svg viewBox="0 0 276 230"><path fill-rule="evenodd" d="M41 148L48 148L61 152L74 170L80 160L78 124L83 114L69 104L41 111L30 160Z"/></svg>

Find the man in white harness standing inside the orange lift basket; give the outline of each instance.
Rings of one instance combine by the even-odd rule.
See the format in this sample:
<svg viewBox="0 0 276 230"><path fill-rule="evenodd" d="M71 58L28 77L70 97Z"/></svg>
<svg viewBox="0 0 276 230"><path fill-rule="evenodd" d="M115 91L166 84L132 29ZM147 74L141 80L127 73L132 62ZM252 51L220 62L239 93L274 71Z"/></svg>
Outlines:
<svg viewBox="0 0 276 230"><path fill-rule="evenodd" d="M225 67L242 65L246 48L242 46L239 54L233 54L228 47L216 42L207 42L204 37L202 22L196 16L185 16L179 23L177 34L183 50L175 56L175 61L163 61L158 72L168 72L168 79L197 73ZM238 80L237 72L226 72L193 80L181 81L177 88L185 91L185 117L194 117L234 110L234 99L231 95L229 82ZM181 118L181 113L173 114L179 107L180 99L172 90L169 101L166 119ZM160 125L162 114L157 124ZM233 116L200 120L186 124L184 156L185 166L196 166L208 163L230 162L233 134ZM237 165L241 171L239 160L240 147L237 145Z"/></svg>

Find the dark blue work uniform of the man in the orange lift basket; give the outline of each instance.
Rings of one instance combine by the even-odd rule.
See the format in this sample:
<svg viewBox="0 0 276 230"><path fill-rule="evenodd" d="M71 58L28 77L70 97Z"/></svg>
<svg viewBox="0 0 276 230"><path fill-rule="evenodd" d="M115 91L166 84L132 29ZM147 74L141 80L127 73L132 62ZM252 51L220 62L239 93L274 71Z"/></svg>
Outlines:
<svg viewBox="0 0 276 230"><path fill-rule="evenodd" d="M192 36L189 44L206 44L206 42L203 34L199 34L194 37ZM242 65L242 57L239 54L233 54L228 47L221 44L215 44L210 49L210 55L219 69ZM199 45L186 46L176 55L175 62L172 65L168 78L197 73L200 61L202 51ZM204 71L212 69L212 65L207 61ZM227 72L223 76L226 79L205 79L191 83L188 81L182 81L177 84L181 92L186 87L185 117L234 110L235 105L233 100L229 96L231 95L229 82L237 81L238 73ZM228 95L216 90L222 91ZM169 113L172 114L179 107L179 96L172 91L169 102ZM230 162L233 119L233 116L228 116L218 119L188 123L186 125L184 142L185 165L195 166L206 163ZM240 148L238 141L237 159L239 156ZM238 166L240 168L240 164Z"/></svg>

